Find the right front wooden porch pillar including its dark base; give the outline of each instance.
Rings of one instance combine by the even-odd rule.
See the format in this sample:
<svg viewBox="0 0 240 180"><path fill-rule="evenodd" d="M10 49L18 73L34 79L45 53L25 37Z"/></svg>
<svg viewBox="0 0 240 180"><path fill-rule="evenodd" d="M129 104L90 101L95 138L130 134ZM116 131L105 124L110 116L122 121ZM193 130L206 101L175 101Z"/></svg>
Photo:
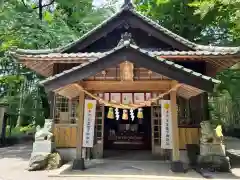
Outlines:
<svg viewBox="0 0 240 180"><path fill-rule="evenodd" d="M177 82L172 82L172 87L176 86ZM177 114L177 91L172 90L170 92L170 106L172 115L172 166L171 170L173 172L184 172L183 164L180 162L180 152L179 152L179 129L178 129L178 114Z"/></svg>

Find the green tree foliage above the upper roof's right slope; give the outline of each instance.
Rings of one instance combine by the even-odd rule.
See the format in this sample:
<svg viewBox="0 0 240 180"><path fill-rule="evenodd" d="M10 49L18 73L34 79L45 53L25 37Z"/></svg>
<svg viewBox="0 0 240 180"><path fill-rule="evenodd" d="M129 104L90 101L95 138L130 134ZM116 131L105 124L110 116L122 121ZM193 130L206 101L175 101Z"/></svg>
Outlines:
<svg viewBox="0 0 240 180"><path fill-rule="evenodd" d="M235 14L239 14L240 8L237 8L239 6L237 3L234 4L234 1L225 5L226 8L220 9L215 8L212 3L216 0L136 0L135 2L138 10L180 36L201 44L226 46L239 44L239 30L236 25L240 23Z"/></svg>

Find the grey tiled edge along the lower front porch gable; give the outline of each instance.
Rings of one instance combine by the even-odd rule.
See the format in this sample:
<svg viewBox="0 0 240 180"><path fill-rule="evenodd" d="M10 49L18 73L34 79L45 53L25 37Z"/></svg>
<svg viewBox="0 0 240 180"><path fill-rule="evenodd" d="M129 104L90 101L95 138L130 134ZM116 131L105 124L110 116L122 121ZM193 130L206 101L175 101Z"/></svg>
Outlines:
<svg viewBox="0 0 240 180"><path fill-rule="evenodd" d="M169 65L169 66L172 66L172 67L174 67L174 68L176 68L176 69L178 69L178 70L185 71L185 72L187 72L187 73L189 73L189 74L191 74L191 75L193 75L193 76L200 77L200 78L202 78L202 79L205 79L205 80L207 80L207 81L211 81L211 82L213 82L213 83L217 83L217 84L220 83L219 80L216 80L216 79L214 79L214 78L212 78L212 77L205 76L205 75L203 75L203 74L201 74L201 73L194 72L193 70L188 69L188 68L185 68L184 66L178 65L178 64L176 64L176 63L174 63L174 62L172 62L172 61L168 61L168 60L163 59L163 58L155 57L154 55L152 55L152 54L149 53L148 51L143 50L143 49L140 49L140 48L139 48L138 46L136 46L136 45L130 44L129 41L125 41L123 45L118 46L118 47L114 48L113 50L106 52L103 56L101 56L101 57L99 57L99 58L96 58L96 59L94 59L94 60L90 60L89 62L83 63L83 64L81 64L81 65L79 65L79 66L73 67L72 69L63 71L62 73L56 74L56 75L54 75L54 76L51 76L51 77L45 79L44 81L41 81L40 84L45 84L45 83L47 83L47 82L49 82L49 81L52 81L52 80L54 80L54 79L57 79L58 77L64 76L65 74L68 74L68 73L70 73L70 72L73 72L73 71L75 71L75 70L77 70L77 69L81 69L81 68L83 68L84 66L86 66L86 65L88 65L88 64L91 64L92 62L97 61L97 60L99 60L99 59L101 59L101 58L104 58L105 56L107 56L107 55L109 55L109 54L111 54L111 53L113 53L113 52L115 52L115 51L117 51L117 50L120 50L120 49L122 49L122 48L124 48L124 47L130 47L130 48L133 48L133 49L135 49L135 50L138 50L139 52L144 53L144 54L146 54L146 55L148 55L148 56L156 59L156 61L161 61L162 63L165 63L165 64L167 64L167 65Z"/></svg>

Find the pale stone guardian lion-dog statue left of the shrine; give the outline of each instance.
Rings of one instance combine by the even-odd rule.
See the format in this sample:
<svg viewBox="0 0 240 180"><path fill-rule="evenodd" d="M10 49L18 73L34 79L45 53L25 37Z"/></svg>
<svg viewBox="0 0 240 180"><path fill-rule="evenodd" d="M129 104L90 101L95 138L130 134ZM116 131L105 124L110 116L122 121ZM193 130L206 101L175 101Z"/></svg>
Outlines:
<svg viewBox="0 0 240 180"><path fill-rule="evenodd" d="M53 120L52 119L45 119L44 127L41 128L40 126L36 127L36 134L35 134L35 141L52 141L53 137Z"/></svg>

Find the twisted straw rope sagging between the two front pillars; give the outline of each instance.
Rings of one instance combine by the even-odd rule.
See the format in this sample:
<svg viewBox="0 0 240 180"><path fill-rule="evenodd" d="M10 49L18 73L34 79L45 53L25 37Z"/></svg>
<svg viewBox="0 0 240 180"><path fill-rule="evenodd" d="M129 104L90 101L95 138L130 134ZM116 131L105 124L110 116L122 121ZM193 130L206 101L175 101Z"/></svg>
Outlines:
<svg viewBox="0 0 240 180"><path fill-rule="evenodd" d="M143 102L138 103L138 104L114 103L114 102L103 100L102 98L100 98L100 97L98 97L96 95L93 95L92 93L86 91L85 89L80 89L79 88L79 90L83 91L84 93L86 93L87 95L92 97L93 99L97 100L100 104L104 104L105 106L118 108L118 109L128 109L128 110L133 109L133 110L135 110L135 109L138 109L138 108L151 106L152 103L158 101L159 99L162 99L164 96L168 95L171 91L177 91L181 86L183 86L183 84L177 84L173 88L171 88L170 90L160 94L159 96L157 96L155 98L152 98L152 99L149 99L148 101L143 101Z"/></svg>

